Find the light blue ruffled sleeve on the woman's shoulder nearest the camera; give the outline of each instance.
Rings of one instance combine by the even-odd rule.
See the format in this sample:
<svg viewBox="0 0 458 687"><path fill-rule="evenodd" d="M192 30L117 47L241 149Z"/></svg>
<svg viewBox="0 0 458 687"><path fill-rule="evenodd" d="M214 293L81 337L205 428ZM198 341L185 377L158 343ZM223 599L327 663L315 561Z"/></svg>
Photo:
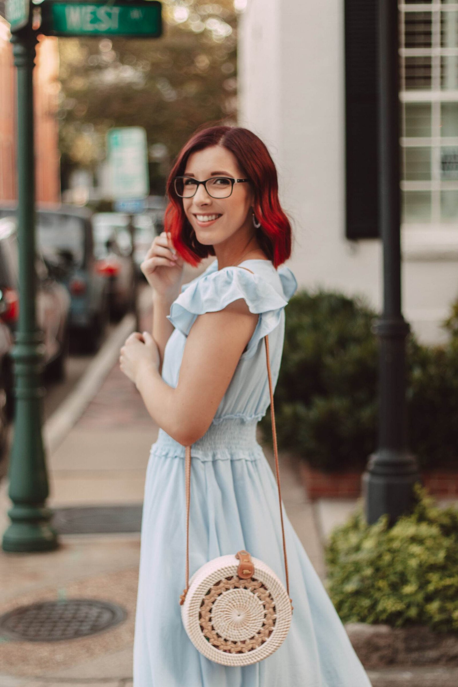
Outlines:
<svg viewBox="0 0 458 687"><path fill-rule="evenodd" d="M283 295L262 276L240 267L225 267L201 275L201 278L186 285L187 288L172 303L167 317L176 329L187 336L198 315L220 311L229 303L243 298L250 312L260 315L247 350L242 354L242 357L249 358L255 353L260 339L279 324L282 311L288 303L287 294L294 293L297 287L293 273L287 267L280 267L278 272Z"/></svg>

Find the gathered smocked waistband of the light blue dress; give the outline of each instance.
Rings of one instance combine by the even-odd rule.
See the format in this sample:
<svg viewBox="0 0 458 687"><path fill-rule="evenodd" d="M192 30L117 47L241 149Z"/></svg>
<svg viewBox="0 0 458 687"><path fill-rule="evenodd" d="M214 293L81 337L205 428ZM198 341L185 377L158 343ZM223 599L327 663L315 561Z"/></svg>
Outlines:
<svg viewBox="0 0 458 687"><path fill-rule="evenodd" d="M212 423L205 434L191 447L192 458L201 460L257 460L264 456L256 440L257 420L227 419ZM153 455L185 457L185 447L159 429L157 441L152 444Z"/></svg>

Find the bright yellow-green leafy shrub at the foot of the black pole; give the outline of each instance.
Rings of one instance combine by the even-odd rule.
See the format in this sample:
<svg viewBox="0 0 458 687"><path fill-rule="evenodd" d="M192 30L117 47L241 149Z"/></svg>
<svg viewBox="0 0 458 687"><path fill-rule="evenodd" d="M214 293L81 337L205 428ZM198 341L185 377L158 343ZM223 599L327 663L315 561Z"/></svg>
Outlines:
<svg viewBox="0 0 458 687"><path fill-rule="evenodd" d="M416 486L411 515L367 525L362 506L332 531L327 587L343 622L458 631L458 508Z"/></svg>

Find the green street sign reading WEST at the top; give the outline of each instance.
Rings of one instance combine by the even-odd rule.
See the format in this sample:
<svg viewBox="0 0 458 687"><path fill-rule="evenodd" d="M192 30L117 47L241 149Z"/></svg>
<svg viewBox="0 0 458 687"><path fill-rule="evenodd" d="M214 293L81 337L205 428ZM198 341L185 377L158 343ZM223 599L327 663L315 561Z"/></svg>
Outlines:
<svg viewBox="0 0 458 687"><path fill-rule="evenodd" d="M161 9L157 0L45 0L41 5L40 31L45 36L158 38L162 34Z"/></svg>

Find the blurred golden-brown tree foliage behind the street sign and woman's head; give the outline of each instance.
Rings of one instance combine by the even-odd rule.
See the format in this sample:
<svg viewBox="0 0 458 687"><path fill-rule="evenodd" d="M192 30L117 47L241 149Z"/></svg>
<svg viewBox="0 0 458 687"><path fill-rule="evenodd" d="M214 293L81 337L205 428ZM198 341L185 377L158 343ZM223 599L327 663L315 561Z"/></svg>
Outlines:
<svg viewBox="0 0 458 687"><path fill-rule="evenodd" d="M64 185L69 168L95 169L104 159L113 126L144 126L153 167L161 159L156 172L166 174L198 126L234 124L236 23L232 0L163 0L161 38L61 39Z"/></svg>

